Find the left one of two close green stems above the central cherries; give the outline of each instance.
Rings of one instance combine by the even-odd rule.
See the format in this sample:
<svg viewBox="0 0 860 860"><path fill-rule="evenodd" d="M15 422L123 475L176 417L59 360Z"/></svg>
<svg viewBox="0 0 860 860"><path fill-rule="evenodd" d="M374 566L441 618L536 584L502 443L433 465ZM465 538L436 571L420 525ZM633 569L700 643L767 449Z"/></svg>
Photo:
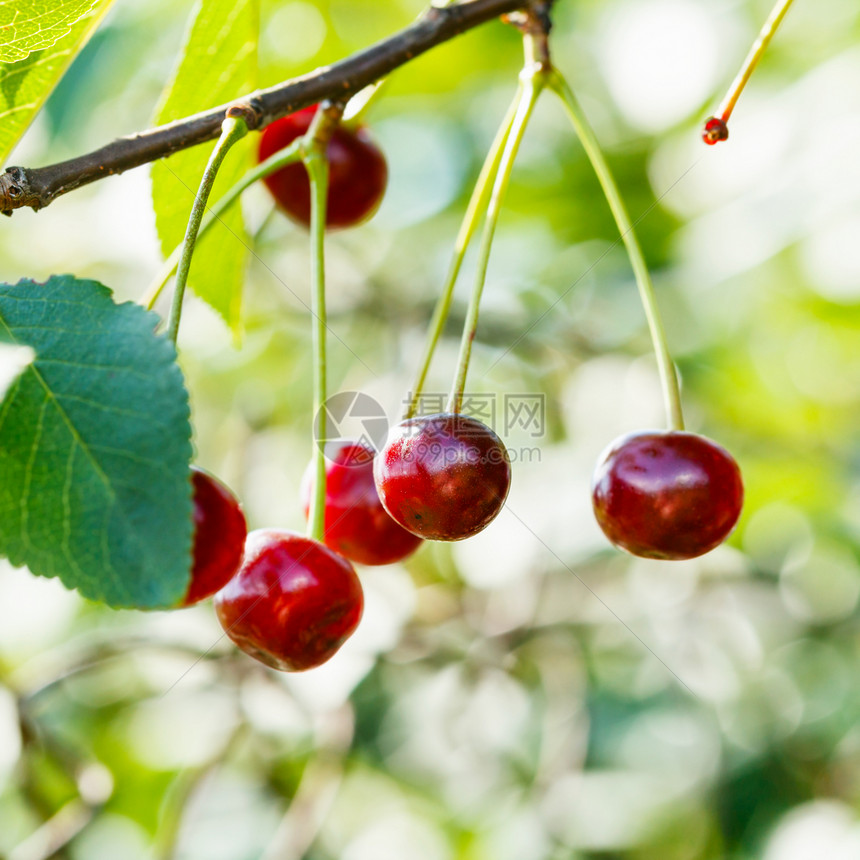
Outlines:
<svg viewBox="0 0 860 860"><path fill-rule="evenodd" d="M469 205L466 207L466 214L463 216L460 230L457 233L457 239L454 242L454 254L448 266L448 273L445 276L445 285L442 288L442 293L436 302L436 307L433 310L433 317L430 320L430 326L428 329L429 338L427 340L427 345L424 348L424 355L421 359L421 368L418 371L418 374L415 377L415 383L412 386L409 405L403 416L404 419L412 418L418 411L421 392L424 390L424 383L427 381L430 364L433 361L433 355L436 352L436 347L439 345L439 339L442 337L442 331L445 328L448 313L451 310L451 301L454 297L454 285L457 283L457 276L460 274L460 268L462 267L463 259L466 256L466 249L469 247L469 242L472 241L472 236L474 236L475 230L478 227L478 221L484 211L486 211L487 203L490 199L492 182L499 169L499 162L502 160L502 152L504 150L505 143L508 140L521 95L522 85L517 88L517 94L514 97L513 102L511 102L508 112L496 132L496 136L490 146L489 152L487 152L487 157L484 159L481 172L478 174L478 179L475 182L474 189L472 190L472 196L469 198Z"/></svg>

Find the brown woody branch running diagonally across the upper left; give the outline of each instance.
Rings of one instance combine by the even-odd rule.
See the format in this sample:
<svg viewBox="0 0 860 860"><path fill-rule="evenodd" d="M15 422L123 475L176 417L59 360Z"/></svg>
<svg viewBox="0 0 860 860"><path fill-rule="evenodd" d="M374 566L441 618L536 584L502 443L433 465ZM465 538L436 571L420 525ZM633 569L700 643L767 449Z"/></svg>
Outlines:
<svg viewBox="0 0 860 860"><path fill-rule="evenodd" d="M414 24L331 66L168 125L121 137L77 158L47 167L9 167L0 176L0 211L42 209L55 198L105 176L155 161L220 134L228 109L241 105L252 128L263 128L323 99L343 101L430 48L534 0L466 0L431 7ZM539 3L538 5L546 5Z"/></svg>

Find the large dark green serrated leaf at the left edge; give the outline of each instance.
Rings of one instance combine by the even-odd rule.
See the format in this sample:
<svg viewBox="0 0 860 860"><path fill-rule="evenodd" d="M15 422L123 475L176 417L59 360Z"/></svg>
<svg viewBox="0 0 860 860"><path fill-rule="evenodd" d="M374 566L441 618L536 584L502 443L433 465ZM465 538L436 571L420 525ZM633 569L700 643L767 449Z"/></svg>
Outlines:
<svg viewBox="0 0 860 860"><path fill-rule="evenodd" d="M0 341L35 353L0 404L0 553L110 606L188 586L188 395L157 323L71 275L0 284Z"/></svg>

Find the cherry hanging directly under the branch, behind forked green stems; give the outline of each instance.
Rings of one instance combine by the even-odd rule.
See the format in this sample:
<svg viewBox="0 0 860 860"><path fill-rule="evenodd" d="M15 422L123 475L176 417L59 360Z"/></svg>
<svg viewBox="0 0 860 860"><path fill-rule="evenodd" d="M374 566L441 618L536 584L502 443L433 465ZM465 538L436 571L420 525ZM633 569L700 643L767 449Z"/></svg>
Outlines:
<svg viewBox="0 0 860 860"><path fill-rule="evenodd" d="M260 136L259 160L305 134L316 105L275 120ZM379 206L388 180L385 156L363 126L337 126L326 150L329 189L326 198L326 227L352 227L369 218ZM300 162L288 164L264 180L284 212L306 227L311 220L311 190L307 171Z"/></svg>

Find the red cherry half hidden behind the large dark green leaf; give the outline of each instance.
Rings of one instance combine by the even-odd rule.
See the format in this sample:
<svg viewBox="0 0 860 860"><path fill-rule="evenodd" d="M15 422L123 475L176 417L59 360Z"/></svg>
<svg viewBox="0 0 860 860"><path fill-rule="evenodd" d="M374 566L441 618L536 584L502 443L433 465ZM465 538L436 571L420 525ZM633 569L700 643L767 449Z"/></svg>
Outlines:
<svg viewBox="0 0 860 860"><path fill-rule="evenodd" d="M191 606L223 588L239 569L248 533L236 497L208 472L191 467L194 545L191 582L181 606Z"/></svg>

